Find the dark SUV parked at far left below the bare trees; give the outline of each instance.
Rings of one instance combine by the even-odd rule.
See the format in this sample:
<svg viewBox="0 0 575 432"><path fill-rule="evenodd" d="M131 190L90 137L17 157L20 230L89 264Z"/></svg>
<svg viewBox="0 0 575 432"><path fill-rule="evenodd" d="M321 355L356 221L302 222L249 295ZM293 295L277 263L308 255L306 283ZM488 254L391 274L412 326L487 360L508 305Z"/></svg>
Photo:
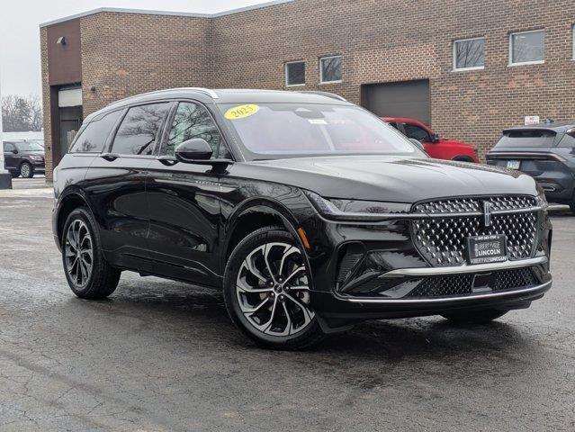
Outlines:
<svg viewBox="0 0 575 432"><path fill-rule="evenodd" d="M4 141L4 167L13 177L44 173L44 148L35 141Z"/></svg>

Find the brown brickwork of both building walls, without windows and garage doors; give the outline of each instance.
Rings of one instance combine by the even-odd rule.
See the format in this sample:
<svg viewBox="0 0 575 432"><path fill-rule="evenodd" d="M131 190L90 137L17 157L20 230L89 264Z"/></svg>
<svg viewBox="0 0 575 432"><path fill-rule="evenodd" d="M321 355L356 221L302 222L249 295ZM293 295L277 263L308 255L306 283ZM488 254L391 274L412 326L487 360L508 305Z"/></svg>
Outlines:
<svg viewBox="0 0 575 432"><path fill-rule="evenodd" d="M306 86L296 89L330 91L355 103L362 84L428 78L432 127L483 155L500 130L525 115L575 119L572 6L572 0L295 0L216 18L88 15L81 18L85 115L172 86L282 89L284 63L303 59ZM544 65L508 67L508 33L540 28ZM477 36L486 38L485 69L452 72L453 40ZM320 85L319 58L334 54L343 55L343 82ZM44 89L44 106L47 99ZM45 122L48 128L49 116Z"/></svg>

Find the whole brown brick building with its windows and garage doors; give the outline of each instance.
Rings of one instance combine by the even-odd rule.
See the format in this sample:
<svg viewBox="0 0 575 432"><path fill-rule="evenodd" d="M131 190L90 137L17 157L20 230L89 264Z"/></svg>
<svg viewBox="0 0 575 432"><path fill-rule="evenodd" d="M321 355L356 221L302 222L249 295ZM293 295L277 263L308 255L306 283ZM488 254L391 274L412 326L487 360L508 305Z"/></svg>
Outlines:
<svg viewBox="0 0 575 432"><path fill-rule="evenodd" d="M275 0L211 15L103 8L45 23L47 180L85 115L175 86L334 92L417 117L482 155L526 115L575 119L572 6Z"/></svg>

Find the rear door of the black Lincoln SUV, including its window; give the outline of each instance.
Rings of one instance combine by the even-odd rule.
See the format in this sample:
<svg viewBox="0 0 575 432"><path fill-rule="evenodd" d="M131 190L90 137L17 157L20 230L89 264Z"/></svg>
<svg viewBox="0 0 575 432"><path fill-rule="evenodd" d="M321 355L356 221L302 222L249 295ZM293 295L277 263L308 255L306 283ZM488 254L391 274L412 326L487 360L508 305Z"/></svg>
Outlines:
<svg viewBox="0 0 575 432"><path fill-rule="evenodd" d="M146 103L124 110L115 133L85 176L106 257L116 266L143 273L152 271L146 176L171 106L171 102Z"/></svg>

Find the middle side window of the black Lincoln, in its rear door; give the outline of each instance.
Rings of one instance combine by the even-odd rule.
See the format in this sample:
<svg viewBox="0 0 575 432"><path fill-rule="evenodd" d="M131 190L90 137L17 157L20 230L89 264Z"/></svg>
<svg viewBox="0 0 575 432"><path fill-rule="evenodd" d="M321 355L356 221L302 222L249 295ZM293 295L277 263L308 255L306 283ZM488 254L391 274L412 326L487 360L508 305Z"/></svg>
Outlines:
<svg viewBox="0 0 575 432"><path fill-rule="evenodd" d="M130 108L113 140L112 152L151 155L169 108L170 103L150 103Z"/></svg>

